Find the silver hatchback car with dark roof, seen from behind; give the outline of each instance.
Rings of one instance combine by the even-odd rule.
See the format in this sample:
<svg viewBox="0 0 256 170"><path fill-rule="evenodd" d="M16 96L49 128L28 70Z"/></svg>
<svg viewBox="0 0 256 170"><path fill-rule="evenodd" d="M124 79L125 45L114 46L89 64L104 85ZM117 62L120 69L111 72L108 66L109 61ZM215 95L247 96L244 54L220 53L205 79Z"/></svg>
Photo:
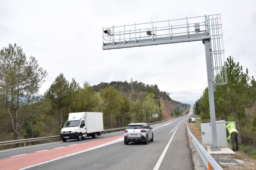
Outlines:
<svg viewBox="0 0 256 170"><path fill-rule="evenodd" d="M154 134L152 127L147 123L130 123L124 130L124 144L129 142L144 142L146 145L148 141L153 142Z"/></svg>

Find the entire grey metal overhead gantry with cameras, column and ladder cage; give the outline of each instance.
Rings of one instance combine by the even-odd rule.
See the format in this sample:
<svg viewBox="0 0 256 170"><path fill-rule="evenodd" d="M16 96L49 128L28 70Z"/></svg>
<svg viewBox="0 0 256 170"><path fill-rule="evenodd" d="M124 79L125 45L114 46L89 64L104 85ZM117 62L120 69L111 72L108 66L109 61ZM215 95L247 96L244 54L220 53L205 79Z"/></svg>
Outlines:
<svg viewBox="0 0 256 170"><path fill-rule="evenodd" d="M211 150L220 150L217 144L214 91L216 85L227 83L221 14L132 25L113 25L103 28L102 38L103 50L203 41L213 140Z"/></svg>

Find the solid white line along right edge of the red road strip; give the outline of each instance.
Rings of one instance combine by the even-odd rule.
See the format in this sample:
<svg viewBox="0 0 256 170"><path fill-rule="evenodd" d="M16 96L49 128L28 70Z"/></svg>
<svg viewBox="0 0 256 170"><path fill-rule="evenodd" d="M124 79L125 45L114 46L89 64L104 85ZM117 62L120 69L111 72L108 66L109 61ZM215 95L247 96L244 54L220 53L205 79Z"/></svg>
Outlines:
<svg viewBox="0 0 256 170"><path fill-rule="evenodd" d="M121 138L119 138L119 139L113 140L113 141L108 142L108 143L106 143L106 144L98 145L98 146L93 147L93 148L88 148L87 150L81 150L80 152L71 153L71 154L69 154L69 155L61 156L61 157L59 157L59 158L55 158L55 159L53 159L53 160L45 161L45 162L43 162L43 163L33 164L32 166L27 166L27 167L25 167L25 168L21 168L21 170L22 170L22 169L32 168L32 167L38 166L38 165L40 165L40 164L45 164L45 163L49 163L49 162L52 162L52 161L61 160L62 158L66 158L66 157L69 157L69 156L77 155L77 154L79 154L79 153L83 153L83 152L87 152L87 151L90 151L90 150L94 150L94 149L96 149L96 148L105 147L105 146L108 146L108 145L111 145L111 144L116 144L117 142L121 142L121 141L124 141L124 137L121 137Z"/></svg>

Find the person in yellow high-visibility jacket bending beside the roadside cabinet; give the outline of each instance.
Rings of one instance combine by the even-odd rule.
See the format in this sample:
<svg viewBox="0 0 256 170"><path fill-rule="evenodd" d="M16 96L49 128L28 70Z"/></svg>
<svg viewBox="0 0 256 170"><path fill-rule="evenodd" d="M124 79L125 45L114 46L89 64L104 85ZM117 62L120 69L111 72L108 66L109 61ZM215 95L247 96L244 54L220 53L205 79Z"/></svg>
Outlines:
<svg viewBox="0 0 256 170"><path fill-rule="evenodd" d="M238 131L234 127L233 123L227 124L226 128L228 129L228 132L229 132L228 140L231 139L231 142L232 142L232 150L237 151L239 149Z"/></svg>

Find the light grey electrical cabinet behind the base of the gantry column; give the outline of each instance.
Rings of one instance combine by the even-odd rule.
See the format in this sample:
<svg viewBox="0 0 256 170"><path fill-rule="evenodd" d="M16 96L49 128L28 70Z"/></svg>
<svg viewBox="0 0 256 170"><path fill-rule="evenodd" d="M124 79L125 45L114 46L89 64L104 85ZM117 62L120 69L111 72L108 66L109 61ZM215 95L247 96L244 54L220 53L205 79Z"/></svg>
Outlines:
<svg viewBox="0 0 256 170"><path fill-rule="evenodd" d="M228 147L226 121L216 121L218 147ZM211 123L201 123L202 144L212 144Z"/></svg>

